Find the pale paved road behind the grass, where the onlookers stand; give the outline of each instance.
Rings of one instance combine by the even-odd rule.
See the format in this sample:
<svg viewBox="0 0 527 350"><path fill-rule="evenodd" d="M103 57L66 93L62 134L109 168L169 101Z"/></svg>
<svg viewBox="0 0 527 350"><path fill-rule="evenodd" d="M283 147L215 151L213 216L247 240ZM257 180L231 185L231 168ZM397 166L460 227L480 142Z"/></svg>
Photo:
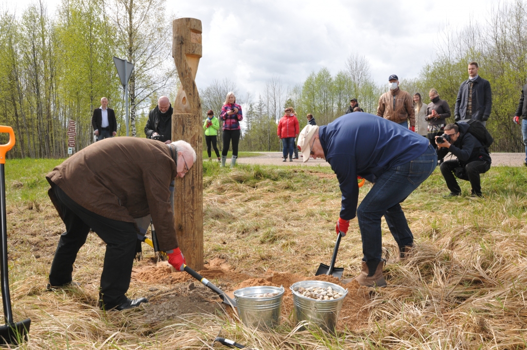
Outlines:
<svg viewBox="0 0 527 350"><path fill-rule="evenodd" d="M302 158L294 159L292 162L287 160L283 162L282 152L258 152L262 155L259 157L250 158L239 158L238 162L242 164L262 164L262 165L275 165L275 166L322 166L329 167L323 159L310 159L306 163L302 163ZM299 152L299 155L302 153ZM450 155L447 156L447 159ZM511 166L521 167L525 159L525 153L491 153L492 166ZM455 158L454 158L455 159Z"/></svg>

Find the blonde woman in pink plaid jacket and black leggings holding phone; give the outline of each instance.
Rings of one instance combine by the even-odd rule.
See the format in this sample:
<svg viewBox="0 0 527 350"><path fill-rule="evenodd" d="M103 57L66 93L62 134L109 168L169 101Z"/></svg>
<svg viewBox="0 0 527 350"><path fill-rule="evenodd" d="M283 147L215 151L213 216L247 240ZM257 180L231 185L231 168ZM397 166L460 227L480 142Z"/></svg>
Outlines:
<svg viewBox="0 0 527 350"><path fill-rule="evenodd" d="M241 106L236 104L236 96L232 91L227 93L225 98L225 104L221 108L220 118L223 121L222 141L223 150L221 151L221 166L225 167L227 160L227 153L229 152L229 146L232 141L232 159L231 168L236 165L238 159L238 143L240 142L240 122L243 119L241 112Z"/></svg>

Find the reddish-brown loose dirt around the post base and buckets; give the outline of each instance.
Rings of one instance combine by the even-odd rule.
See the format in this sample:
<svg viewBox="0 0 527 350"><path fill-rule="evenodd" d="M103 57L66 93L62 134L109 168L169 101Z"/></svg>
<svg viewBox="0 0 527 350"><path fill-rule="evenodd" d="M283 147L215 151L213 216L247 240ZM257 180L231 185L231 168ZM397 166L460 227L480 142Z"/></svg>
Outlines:
<svg viewBox="0 0 527 350"><path fill-rule="evenodd" d="M360 330L367 326L368 310L364 308L369 299L368 289L362 288L356 281L343 285L333 276L299 276L287 272L276 272L268 270L262 277L251 277L230 269L230 266L221 259L211 260L206 268L199 274L212 281L227 294L232 296L232 291L253 286L284 286L284 299L282 316L289 318L293 312L293 298L289 287L295 282L302 280L321 280L348 289L348 295L344 299L340 310L337 330ZM145 317L147 322L172 318L176 315L186 313L213 313L221 309L218 296L194 280L186 273L172 273L170 267L158 264L158 266L144 266L134 269L132 278L148 284L172 285L169 294L165 292L160 299L155 297L151 303L145 304Z"/></svg>

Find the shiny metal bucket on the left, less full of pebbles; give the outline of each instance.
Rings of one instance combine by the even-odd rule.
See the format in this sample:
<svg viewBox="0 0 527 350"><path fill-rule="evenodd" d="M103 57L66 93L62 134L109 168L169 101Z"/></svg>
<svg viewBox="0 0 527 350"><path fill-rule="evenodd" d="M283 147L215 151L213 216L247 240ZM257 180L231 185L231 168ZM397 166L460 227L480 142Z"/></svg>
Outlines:
<svg viewBox="0 0 527 350"><path fill-rule="evenodd" d="M255 297L258 294L278 293L274 297ZM245 287L234 292L238 315L244 325L265 330L280 324L284 287Z"/></svg>

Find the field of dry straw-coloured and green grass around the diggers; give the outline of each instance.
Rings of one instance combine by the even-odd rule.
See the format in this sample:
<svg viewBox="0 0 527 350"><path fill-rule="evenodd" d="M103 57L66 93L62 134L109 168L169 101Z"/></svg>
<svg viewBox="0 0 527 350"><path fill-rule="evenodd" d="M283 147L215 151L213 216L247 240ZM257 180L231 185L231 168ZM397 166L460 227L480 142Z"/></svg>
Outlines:
<svg viewBox="0 0 527 350"><path fill-rule="evenodd" d="M102 312L97 287L105 246L94 234L74 267L82 288L46 291L64 226L47 198L44 176L59 162L6 164L14 317L32 318L30 341L21 348L207 349L220 327L223 337L259 349L527 348L524 168L491 168L482 177L482 199L443 199L448 191L436 169L403 203L415 254L405 264L385 268L388 287L369 289L367 327L329 336L298 332L290 318L266 333L221 313L145 323L141 310ZM329 168L239 165L229 170L217 162L204 162L203 168L206 260L222 259L237 273L256 277L269 270L310 276L320 262L329 263L340 210L338 183ZM360 190L360 198L370 186ZM462 188L470 194L469 183L463 181ZM362 258L356 220L340 247L337 266L345 268L344 277L356 275ZM383 247L387 258L395 254L384 220ZM132 280L128 295L147 295L151 287ZM160 293L170 288L155 287ZM214 348L226 347L216 343Z"/></svg>

